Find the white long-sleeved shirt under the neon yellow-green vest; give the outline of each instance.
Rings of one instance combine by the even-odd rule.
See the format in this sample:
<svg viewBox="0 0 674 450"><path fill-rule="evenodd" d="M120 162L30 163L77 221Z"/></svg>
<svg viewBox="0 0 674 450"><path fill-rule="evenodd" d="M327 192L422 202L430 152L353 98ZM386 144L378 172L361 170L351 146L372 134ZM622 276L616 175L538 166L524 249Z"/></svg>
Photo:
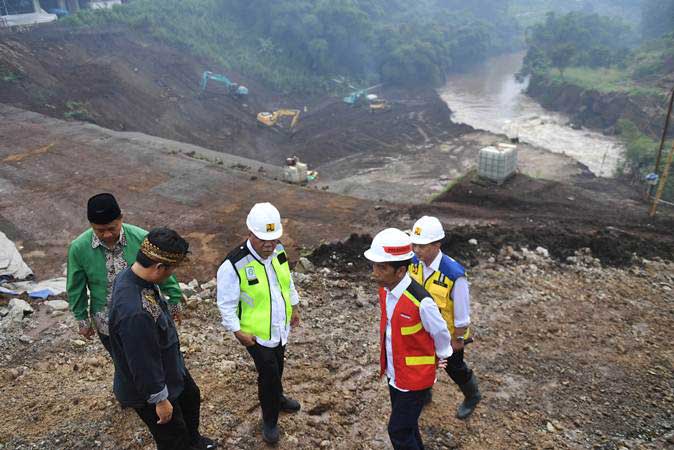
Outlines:
<svg viewBox="0 0 674 450"><path fill-rule="evenodd" d="M276 272L272 266L272 259L276 255L276 251L270 255L267 259L262 259L260 255L257 254L250 241L246 241L246 246L250 251L251 255L262 265L264 265L264 270L267 273L267 278L269 279L269 288L271 292L272 300L272 316L271 316L271 339L265 340L259 336L255 336L255 340L258 344L274 348L281 343L281 345L286 345L288 342L288 334L290 333L290 325L286 325L286 308L285 301L283 300L283 294L281 294L281 287L279 286L278 279L276 278ZM239 317L237 315L237 309L239 307L241 295L241 285L239 284L239 276L232 265L232 262L226 260L218 269L217 275L217 301L218 308L220 309L220 315L222 316L222 325L227 329L235 333L241 329L241 323L239 322ZM295 283L293 282L292 276L290 277L290 304L297 305L300 302L299 296L297 295L297 290L295 289Z"/></svg>

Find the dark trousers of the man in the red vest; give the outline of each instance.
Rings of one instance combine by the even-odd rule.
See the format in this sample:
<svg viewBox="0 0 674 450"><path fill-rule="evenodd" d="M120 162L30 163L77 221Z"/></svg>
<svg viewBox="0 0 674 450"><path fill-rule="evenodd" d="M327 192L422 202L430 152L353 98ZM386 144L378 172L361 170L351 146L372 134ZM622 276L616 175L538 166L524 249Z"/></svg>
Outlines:
<svg viewBox="0 0 674 450"><path fill-rule="evenodd" d="M389 384L391 417L388 435L395 450L423 450L419 433L419 416L424 407L428 389L402 392Z"/></svg>

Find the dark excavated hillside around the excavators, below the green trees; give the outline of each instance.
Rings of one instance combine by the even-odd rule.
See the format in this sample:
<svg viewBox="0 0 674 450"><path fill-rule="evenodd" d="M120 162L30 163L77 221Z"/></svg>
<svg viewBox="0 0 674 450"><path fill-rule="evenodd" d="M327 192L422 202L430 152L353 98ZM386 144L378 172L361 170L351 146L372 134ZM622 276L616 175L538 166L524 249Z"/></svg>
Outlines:
<svg viewBox="0 0 674 450"><path fill-rule="evenodd" d="M216 83L199 97L204 70L245 84L245 102ZM457 134L431 89L385 92L393 109L371 115L337 97L280 98L264 86L184 50L127 29L63 30L57 25L0 41L0 103L56 118L75 114L119 131L140 131L273 164L296 154L312 165L379 148ZM304 112L304 107L307 111ZM301 109L294 136L257 125L260 111ZM393 120L392 120L393 118ZM286 124L287 125L287 124Z"/></svg>

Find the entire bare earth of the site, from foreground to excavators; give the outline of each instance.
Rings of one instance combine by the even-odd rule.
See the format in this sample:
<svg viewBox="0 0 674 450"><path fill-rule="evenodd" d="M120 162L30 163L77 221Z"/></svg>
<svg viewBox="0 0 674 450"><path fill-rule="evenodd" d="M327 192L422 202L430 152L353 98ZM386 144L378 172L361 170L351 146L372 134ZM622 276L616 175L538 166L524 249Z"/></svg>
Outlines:
<svg viewBox="0 0 674 450"><path fill-rule="evenodd" d="M297 275L304 323L285 386L303 409L282 417L280 448L390 448L376 288L361 255L367 234L424 214L441 218L445 250L469 268L467 354L485 394L458 421L459 393L440 374L421 422L428 448L672 445L674 219L666 209L649 219L624 180L523 146L522 173L488 184L469 169L502 137L453 124L432 90L385 90L393 110L370 114L230 73L251 89L244 106L198 98L201 71L217 68L128 30L2 37L1 68L18 79L0 81L0 229L38 279L63 274L96 192L114 192L129 223L179 230L193 251L180 278L202 283L245 239L252 204L279 207L293 264L309 255L317 266ZM256 124L280 106L307 106L292 135ZM291 154L318 168L317 183L274 180ZM252 364L219 325L212 289L197 291L180 333L203 431L224 448L264 448ZM115 403L100 344L81 342L68 313L33 307L0 331L0 448L152 448Z"/></svg>

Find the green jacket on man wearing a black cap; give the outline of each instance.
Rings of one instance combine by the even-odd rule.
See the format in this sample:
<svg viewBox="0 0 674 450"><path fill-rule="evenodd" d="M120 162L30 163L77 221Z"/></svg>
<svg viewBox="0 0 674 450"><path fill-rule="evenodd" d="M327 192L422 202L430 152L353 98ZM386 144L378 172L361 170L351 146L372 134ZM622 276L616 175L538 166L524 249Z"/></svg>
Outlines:
<svg viewBox="0 0 674 450"><path fill-rule="evenodd" d="M140 227L122 224L122 235L118 247L128 267L136 261L140 244L147 235L147 231ZM112 282L108 278L108 262L111 252L103 245L99 245L93 230L90 228L79 235L68 249L68 278L66 289L68 303L75 319L80 326L88 325L89 318L94 318L96 328L107 335L107 312ZM169 297L169 304L173 311L180 307L182 292L175 276L171 276L160 289ZM87 293L88 289L88 293Z"/></svg>

